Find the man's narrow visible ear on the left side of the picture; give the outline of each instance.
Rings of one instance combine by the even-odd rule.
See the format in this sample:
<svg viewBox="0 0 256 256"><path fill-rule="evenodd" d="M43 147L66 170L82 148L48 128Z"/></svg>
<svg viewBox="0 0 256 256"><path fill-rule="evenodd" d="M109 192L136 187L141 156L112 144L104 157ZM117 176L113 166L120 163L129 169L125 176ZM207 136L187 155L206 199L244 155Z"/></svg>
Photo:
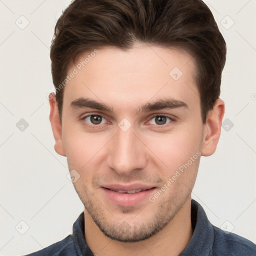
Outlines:
<svg viewBox="0 0 256 256"><path fill-rule="evenodd" d="M59 112L58 112L55 93L51 92L48 98L49 98L49 104L50 104L49 118L50 118L51 129L52 129L54 140L55 140L54 149L58 154L62 156L66 156L64 146L63 146L63 141L62 141L61 122L59 118Z"/></svg>

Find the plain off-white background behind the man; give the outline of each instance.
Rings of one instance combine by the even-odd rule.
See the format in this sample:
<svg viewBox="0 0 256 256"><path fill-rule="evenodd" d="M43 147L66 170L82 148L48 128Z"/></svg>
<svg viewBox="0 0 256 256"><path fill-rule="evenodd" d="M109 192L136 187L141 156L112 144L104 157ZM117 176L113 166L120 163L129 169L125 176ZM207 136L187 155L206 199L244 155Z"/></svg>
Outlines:
<svg viewBox="0 0 256 256"><path fill-rule="evenodd" d="M0 255L26 254L63 239L83 210L66 158L53 148L46 97L53 89L53 28L68 3L0 0ZM201 157L192 198L212 224L256 242L256 1L205 3L227 43L225 115L216 152ZM29 125L23 131L21 118Z"/></svg>

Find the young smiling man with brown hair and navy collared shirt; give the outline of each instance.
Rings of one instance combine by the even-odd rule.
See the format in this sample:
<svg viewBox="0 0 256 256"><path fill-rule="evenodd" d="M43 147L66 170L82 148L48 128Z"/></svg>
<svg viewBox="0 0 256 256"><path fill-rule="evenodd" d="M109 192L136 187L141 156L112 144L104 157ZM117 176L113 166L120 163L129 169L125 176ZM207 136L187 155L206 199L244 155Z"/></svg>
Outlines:
<svg viewBox="0 0 256 256"><path fill-rule="evenodd" d="M29 255L255 255L191 200L214 153L226 45L200 0L74 0L51 45L55 151L84 212Z"/></svg>

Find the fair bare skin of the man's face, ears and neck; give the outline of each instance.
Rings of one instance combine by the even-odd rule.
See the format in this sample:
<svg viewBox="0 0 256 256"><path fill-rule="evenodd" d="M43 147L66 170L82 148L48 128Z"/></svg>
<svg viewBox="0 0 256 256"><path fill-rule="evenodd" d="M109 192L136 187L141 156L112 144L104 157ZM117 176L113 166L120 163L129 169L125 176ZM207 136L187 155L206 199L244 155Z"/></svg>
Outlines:
<svg viewBox="0 0 256 256"><path fill-rule="evenodd" d="M173 67L183 72L178 80L169 75ZM196 152L214 153L224 102L216 100L203 124L195 70L186 51L138 43L127 51L103 47L65 85L62 123L54 95L49 99L55 151L80 175L74 187L84 204L85 240L93 253L178 255L188 244L191 190L200 157L153 202L118 205L105 196L102 185L139 182L159 190ZM187 107L136 111L166 96ZM112 111L71 107L80 97L103 102ZM84 118L89 114L104 118L94 124L90 116ZM162 114L172 120L163 118L164 124L159 124L157 116ZM123 118L131 124L126 131L118 126Z"/></svg>

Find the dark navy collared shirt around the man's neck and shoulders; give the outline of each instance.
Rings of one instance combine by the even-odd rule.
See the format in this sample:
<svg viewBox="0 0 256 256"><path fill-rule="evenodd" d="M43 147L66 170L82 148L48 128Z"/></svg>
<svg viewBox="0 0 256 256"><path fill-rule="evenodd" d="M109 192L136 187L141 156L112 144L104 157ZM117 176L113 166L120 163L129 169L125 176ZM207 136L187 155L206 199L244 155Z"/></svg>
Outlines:
<svg viewBox="0 0 256 256"><path fill-rule="evenodd" d="M193 235L180 256L256 256L256 244L212 225L202 206L191 200ZM134 251L135 253L135 251ZM85 243L84 215L73 224L73 234L27 256L93 256ZM158 256L158 255L157 255Z"/></svg>

